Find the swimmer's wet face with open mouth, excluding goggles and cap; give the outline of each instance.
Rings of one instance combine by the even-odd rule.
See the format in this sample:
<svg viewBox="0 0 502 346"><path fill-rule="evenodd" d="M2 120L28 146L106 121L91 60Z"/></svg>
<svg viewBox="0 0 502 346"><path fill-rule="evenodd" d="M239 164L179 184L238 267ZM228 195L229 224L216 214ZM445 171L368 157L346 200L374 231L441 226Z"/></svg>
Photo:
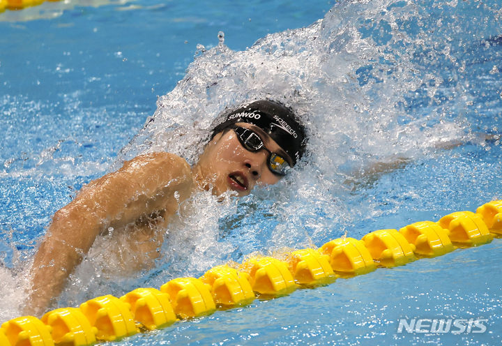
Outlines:
<svg viewBox="0 0 502 346"><path fill-rule="evenodd" d="M250 123L236 123L236 126L253 130L261 137L269 151L289 158L261 128ZM268 151L264 149L256 152L245 149L234 130L228 129L213 137L197 165L204 180L213 186L213 193L216 195L232 190L238 196L245 196L249 195L256 185L271 185L280 180L281 176L268 168L268 155Z"/></svg>

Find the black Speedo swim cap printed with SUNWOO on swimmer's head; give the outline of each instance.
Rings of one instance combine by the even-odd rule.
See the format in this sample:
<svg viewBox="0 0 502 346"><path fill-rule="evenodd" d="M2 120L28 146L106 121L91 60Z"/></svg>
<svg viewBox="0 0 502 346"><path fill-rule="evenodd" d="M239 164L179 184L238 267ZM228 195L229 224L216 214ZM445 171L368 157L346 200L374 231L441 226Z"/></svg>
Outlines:
<svg viewBox="0 0 502 346"><path fill-rule="evenodd" d="M216 126L213 136L234 123L252 123L269 135L286 151L293 165L305 151L305 128L298 122L294 112L275 101L259 100L244 103L224 115L225 121Z"/></svg>

